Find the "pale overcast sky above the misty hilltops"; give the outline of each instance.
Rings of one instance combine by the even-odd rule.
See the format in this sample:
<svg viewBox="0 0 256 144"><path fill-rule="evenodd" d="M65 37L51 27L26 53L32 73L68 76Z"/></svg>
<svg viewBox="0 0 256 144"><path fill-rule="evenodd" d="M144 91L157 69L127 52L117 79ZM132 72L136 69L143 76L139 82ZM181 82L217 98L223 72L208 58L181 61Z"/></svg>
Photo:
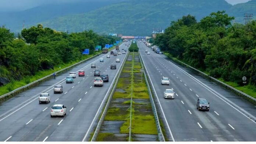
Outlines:
<svg viewBox="0 0 256 144"><path fill-rule="evenodd" d="M0 11L19 11L51 3L74 3L81 0L0 0ZM85 1L85 0L84 0ZM86 0L92 1L92 0ZM93 0L95 1L95 0ZM101 0L103 1L103 0ZM226 0L230 4L245 3L249 0Z"/></svg>

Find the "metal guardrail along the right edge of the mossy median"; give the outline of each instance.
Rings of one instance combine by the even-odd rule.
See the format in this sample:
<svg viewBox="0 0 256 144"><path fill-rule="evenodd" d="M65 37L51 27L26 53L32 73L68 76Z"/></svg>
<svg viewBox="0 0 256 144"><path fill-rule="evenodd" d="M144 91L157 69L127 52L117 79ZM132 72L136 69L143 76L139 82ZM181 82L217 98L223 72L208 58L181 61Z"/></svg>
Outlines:
<svg viewBox="0 0 256 144"><path fill-rule="evenodd" d="M139 51L138 51L138 53L139 53L139 59L142 62L142 68L144 68L145 63L142 60L141 53ZM157 132L158 132L158 139L159 139L159 141L165 141L163 132L162 132L161 127L160 127L160 122L159 122L159 118L158 118L158 115L157 115L156 105L154 104L154 99L153 99L153 96L152 96L152 93L151 93L150 84L149 84L149 82L147 80L147 74L146 74L146 71L144 71L144 77L145 77L145 81L146 81L146 84L147 84L147 90L149 91L149 96L150 96L149 98L150 98L150 102L151 102L151 105L152 105L152 110L153 110L154 118L155 118L155 121L156 121L156 127L157 127Z"/></svg>

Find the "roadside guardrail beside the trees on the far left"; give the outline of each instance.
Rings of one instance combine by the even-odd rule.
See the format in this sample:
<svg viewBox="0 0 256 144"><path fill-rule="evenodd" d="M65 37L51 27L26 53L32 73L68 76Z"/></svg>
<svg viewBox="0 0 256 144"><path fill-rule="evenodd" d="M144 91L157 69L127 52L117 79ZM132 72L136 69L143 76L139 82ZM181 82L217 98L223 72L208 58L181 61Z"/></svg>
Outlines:
<svg viewBox="0 0 256 144"><path fill-rule="evenodd" d="M99 53L99 54L101 54L101 53ZM77 63L75 63L75 64L73 64L73 65L71 65L71 66L68 66L68 67L66 67L66 68L64 68L64 69L61 69L61 70L57 71L56 74L57 74L57 73L60 73L60 72L62 72L62 71L65 71L66 69L72 68L73 66L76 66L76 65L78 65L78 64L81 64L81 63L84 62L84 61L90 60L91 58L94 58L94 57L96 57L96 56L97 56L97 54L96 54L96 55L93 55L92 57L86 58L85 60L82 60L82 61L80 61L80 62L77 62ZM4 94L4 95L0 96L0 98L4 98L4 97L6 97L6 96L10 96L11 94L14 94L14 93L16 93L17 91L19 91L19 90L21 90L21 89L25 89L25 88L27 88L27 87L29 87L29 86L35 84L35 83L38 83L38 82L40 82L40 81L42 81L42 80L45 80L45 79L47 79L47 78L49 78L49 77L51 77L51 76L53 76L53 75L52 75L52 74L47 75L47 76L45 76L45 77L43 77L43 78L40 78L40 79L38 79L38 80L36 80L36 81L34 81L34 82L32 82L32 83L29 83L29 84L27 84L27 85L25 85L25 86L19 87L18 89L15 89L15 90L13 90L13 91L7 93L7 94Z"/></svg>

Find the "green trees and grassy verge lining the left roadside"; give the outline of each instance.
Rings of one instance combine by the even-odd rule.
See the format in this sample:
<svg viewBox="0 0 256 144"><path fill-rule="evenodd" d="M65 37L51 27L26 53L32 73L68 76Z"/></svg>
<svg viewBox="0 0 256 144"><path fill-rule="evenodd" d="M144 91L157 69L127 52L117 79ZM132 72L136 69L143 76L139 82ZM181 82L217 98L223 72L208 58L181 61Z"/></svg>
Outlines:
<svg viewBox="0 0 256 144"><path fill-rule="evenodd" d="M100 36L92 30L67 34L42 25L24 29L15 39L0 27L0 96L43 78L54 71L97 54L95 46L115 43L117 37ZM85 48L89 55L82 55ZM100 51L99 51L100 52Z"/></svg>

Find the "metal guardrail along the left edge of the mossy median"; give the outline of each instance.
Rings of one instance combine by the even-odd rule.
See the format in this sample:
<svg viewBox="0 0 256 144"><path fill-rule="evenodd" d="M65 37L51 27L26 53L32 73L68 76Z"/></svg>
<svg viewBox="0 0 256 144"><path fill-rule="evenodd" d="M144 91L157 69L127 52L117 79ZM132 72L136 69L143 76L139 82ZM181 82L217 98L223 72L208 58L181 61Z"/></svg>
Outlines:
<svg viewBox="0 0 256 144"><path fill-rule="evenodd" d="M118 79L120 78L121 71L122 71L122 69L123 69L123 67L124 67L124 63L125 63L125 61L126 61L128 55L129 55L129 51L128 51L127 55L125 56L124 61L122 61L122 64L121 64L122 67L117 71L117 73L119 73L119 74L118 74L117 78L115 79L116 81L115 81L114 86L113 86L113 85L111 86L111 88L113 87L113 89L112 89L111 93L110 93L110 91L109 91L109 93L110 93L109 99L108 99L107 104L106 104L106 106L105 106L105 108L104 108L104 111L103 111L103 113L102 113L102 116L100 117L100 120L99 120L99 122L98 122L98 124L97 124L97 127L96 127L96 129L95 129L95 132L94 132L94 134L93 134L93 136L92 136L92 140L91 140L91 141L96 141L96 140L97 140L97 137L98 137L98 135L99 135L99 133L100 133L100 129L101 129L102 125L103 125L105 116L106 116L106 114L107 114L107 110L108 110L108 108L109 108L111 99L112 99L112 97L113 97L113 95L114 95L114 92L115 92L115 89L116 89L116 87L117 87ZM110 88L110 89L111 89L111 88Z"/></svg>

